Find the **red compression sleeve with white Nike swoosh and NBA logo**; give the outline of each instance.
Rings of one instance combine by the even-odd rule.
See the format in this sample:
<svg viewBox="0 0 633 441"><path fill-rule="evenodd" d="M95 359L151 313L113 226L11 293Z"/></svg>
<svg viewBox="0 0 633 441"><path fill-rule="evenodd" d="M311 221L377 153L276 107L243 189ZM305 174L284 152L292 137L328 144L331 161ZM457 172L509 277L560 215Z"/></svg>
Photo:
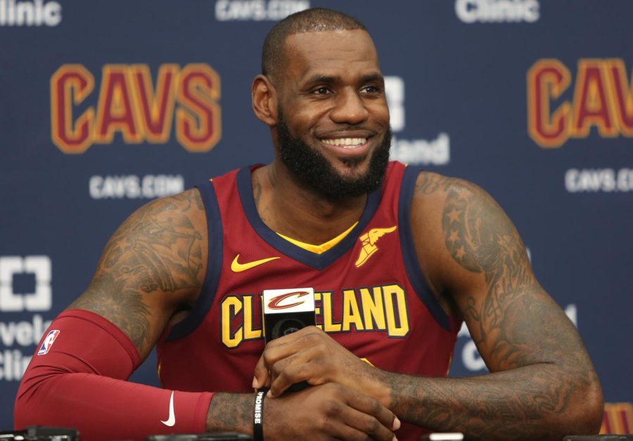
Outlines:
<svg viewBox="0 0 633 441"><path fill-rule="evenodd" d="M20 383L15 428L72 427L89 441L204 433L212 392L127 382L139 364L132 341L110 321L79 309L63 312L44 333Z"/></svg>

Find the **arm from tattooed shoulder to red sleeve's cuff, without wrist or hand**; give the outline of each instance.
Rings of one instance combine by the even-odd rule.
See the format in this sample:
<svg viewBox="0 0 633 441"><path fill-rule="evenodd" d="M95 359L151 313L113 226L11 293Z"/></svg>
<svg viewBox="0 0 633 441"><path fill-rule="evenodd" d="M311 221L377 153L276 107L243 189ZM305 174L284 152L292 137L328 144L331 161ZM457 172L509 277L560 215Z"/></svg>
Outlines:
<svg viewBox="0 0 633 441"><path fill-rule="evenodd" d="M60 314L47 354L34 355L15 402L15 425L79 428L89 439L201 432L208 392L128 383L170 321L196 300L205 274L205 213L197 190L136 210L115 231L87 290ZM186 409L186 410L185 410Z"/></svg>

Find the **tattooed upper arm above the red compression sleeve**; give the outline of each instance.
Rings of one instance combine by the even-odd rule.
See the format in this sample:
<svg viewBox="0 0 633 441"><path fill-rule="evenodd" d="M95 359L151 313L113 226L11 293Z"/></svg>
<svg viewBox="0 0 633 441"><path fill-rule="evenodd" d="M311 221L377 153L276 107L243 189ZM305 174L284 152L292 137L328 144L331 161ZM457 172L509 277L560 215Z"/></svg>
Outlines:
<svg viewBox="0 0 633 441"><path fill-rule="evenodd" d="M202 283L203 236L192 222L193 213L202 209L198 191L190 190L134 212L110 238L93 281L70 308L106 317L141 354L150 350L162 329L151 326L159 311L151 309L148 296L177 296Z"/></svg>

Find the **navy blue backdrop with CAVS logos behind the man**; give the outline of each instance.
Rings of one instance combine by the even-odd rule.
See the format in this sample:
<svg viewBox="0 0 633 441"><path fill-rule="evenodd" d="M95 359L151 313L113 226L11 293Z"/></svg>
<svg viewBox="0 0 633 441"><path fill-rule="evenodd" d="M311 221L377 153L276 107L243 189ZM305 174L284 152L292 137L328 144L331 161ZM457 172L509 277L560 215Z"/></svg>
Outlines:
<svg viewBox="0 0 633 441"><path fill-rule="evenodd" d="M373 34L392 157L497 198L606 400L633 400L630 1L0 0L0 429L130 212L271 160L250 82L269 28L310 6ZM482 369L464 331L451 374Z"/></svg>

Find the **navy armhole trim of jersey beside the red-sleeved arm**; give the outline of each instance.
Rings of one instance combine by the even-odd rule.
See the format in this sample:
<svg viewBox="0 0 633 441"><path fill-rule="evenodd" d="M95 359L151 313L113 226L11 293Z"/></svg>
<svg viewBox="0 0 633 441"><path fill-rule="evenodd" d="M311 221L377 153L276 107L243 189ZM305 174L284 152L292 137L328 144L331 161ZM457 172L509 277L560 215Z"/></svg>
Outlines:
<svg viewBox="0 0 633 441"><path fill-rule="evenodd" d="M215 189L209 181L196 187L200 191L207 214L207 272L200 295L198 295L198 300L196 300L196 305L194 305L191 313L183 321L174 325L170 334L167 335L167 341L186 337L202 323L211 305L213 305L220 272L222 271L222 237L224 233L222 231L222 217Z"/></svg>

